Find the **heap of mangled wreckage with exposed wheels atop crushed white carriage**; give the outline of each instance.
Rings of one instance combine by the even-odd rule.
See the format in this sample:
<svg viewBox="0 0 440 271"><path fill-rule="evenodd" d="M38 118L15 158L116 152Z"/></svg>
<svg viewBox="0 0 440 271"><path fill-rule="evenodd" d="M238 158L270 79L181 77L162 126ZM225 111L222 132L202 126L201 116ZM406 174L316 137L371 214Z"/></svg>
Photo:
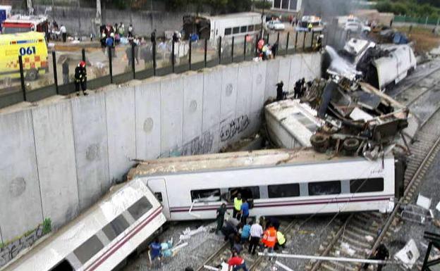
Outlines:
<svg viewBox="0 0 440 271"><path fill-rule="evenodd" d="M405 55L406 62L398 56L395 61L396 56L392 56L393 51L401 50L410 51ZM284 148L312 146L319 153L334 151L335 155L364 156L369 160L381 158L396 148L408 153L403 131L408 127L408 119L412 118L408 107L373 87L371 80L365 81L372 78L372 73L377 73L375 78L381 80L384 75L379 71L384 70L381 65L387 61L395 61L393 68L396 70L406 67L406 70L390 70L394 75L388 81L403 80L415 68L412 49L408 45L405 49L393 46L391 51L378 53L372 42L352 39L341 53L350 55L349 59L335 55L331 47L326 51L331 56L326 70L328 80L321 78L308 82L304 95L298 100L288 99L266 106L271 141ZM397 64L399 61L401 63ZM362 71L359 67L363 67Z"/></svg>

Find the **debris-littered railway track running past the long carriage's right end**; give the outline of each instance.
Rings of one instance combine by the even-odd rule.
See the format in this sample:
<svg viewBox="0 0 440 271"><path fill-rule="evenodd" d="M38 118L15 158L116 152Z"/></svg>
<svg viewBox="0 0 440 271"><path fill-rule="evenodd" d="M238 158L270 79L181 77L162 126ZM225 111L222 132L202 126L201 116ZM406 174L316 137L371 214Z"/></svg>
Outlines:
<svg viewBox="0 0 440 271"><path fill-rule="evenodd" d="M423 94L422 94L423 95ZM352 258L368 258L371 251L386 238L390 237L390 229L398 224L400 206L410 203L415 196L417 187L431 165L436 153L440 151L440 107L420 125L419 131L410 146L410 159L405 171L405 193L396 204L391 215L381 213L355 213L350 215L337 232L331 234L331 241L317 253L317 256L342 256ZM306 265L308 271L358 271L359 263L339 263L310 261Z"/></svg>

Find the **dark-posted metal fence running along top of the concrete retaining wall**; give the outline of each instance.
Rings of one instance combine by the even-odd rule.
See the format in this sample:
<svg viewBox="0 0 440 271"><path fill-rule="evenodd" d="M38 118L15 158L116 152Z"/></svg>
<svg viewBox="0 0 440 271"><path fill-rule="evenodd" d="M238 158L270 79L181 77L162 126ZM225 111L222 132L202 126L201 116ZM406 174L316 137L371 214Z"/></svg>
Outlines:
<svg viewBox="0 0 440 271"><path fill-rule="evenodd" d="M319 34L322 33L270 32L264 35L264 40L269 44L278 44L274 52L276 57L315 50ZM47 68L39 70L37 75L25 56L19 56L16 78L4 78L3 84L0 84L0 108L22 101L33 102L49 96L72 94L75 92L75 67L80 61L86 62L87 89L98 89L108 84L251 61L256 57L258 40L257 35L246 35L219 38L215 42L158 40L152 43L142 39L138 45L87 49L76 46L75 51L66 46L62 51L51 51Z"/></svg>

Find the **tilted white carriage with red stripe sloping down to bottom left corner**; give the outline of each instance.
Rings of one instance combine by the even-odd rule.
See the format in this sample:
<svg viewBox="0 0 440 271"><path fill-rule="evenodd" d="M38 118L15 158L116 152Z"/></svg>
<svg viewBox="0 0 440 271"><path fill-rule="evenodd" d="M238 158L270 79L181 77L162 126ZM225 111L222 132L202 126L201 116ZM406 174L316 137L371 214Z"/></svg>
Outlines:
<svg viewBox="0 0 440 271"><path fill-rule="evenodd" d="M143 182L119 187L5 271L114 269L166 222L161 204Z"/></svg>

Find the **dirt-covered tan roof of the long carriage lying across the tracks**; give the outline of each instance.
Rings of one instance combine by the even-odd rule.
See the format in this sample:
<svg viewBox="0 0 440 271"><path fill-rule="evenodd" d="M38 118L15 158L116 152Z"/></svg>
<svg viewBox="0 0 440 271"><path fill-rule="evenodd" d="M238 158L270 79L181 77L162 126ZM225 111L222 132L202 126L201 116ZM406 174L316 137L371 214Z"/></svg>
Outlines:
<svg viewBox="0 0 440 271"><path fill-rule="evenodd" d="M243 151L236 153L205 154L145 160L128 172L128 179L149 175L166 175L180 172L227 170L238 168L270 167L274 165L294 165L317 163L331 160L365 160L362 157L334 156L317 153L310 148L272 149L262 151Z"/></svg>

